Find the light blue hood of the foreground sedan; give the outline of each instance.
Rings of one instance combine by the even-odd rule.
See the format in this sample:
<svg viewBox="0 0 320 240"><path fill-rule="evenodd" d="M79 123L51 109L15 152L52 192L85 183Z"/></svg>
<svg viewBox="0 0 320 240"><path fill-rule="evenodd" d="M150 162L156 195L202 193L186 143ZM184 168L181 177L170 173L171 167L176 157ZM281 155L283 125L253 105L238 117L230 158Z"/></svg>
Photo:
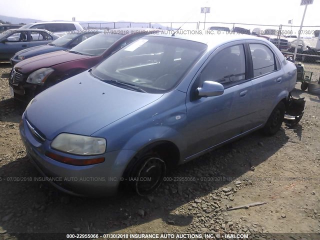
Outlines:
<svg viewBox="0 0 320 240"><path fill-rule="evenodd" d="M85 71L36 95L24 114L49 140L61 132L91 135L162 95L120 88Z"/></svg>

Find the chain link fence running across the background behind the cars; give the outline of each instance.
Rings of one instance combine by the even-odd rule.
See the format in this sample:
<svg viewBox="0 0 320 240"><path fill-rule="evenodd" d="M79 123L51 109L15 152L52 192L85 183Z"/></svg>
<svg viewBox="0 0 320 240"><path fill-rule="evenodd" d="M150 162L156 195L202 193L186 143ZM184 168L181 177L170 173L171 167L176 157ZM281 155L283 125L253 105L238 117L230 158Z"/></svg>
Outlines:
<svg viewBox="0 0 320 240"><path fill-rule="evenodd" d="M295 60L307 63L320 63L320 25L268 25L239 22L88 22L81 23L84 29L114 29L127 27L144 27L163 30L181 29L212 29L232 33L253 34L264 37L276 45L283 54L293 59L295 46L297 53ZM300 33L300 39L297 40Z"/></svg>

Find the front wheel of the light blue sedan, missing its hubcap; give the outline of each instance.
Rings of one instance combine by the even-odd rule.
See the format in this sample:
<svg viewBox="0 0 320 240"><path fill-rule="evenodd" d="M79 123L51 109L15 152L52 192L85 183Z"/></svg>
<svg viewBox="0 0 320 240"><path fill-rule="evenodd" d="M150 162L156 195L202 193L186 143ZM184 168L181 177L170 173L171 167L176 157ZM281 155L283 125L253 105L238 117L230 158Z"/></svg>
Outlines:
<svg viewBox="0 0 320 240"><path fill-rule="evenodd" d="M156 153L147 153L135 160L129 174L129 186L138 195L146 196L162 183L166 164Z"/></svg>

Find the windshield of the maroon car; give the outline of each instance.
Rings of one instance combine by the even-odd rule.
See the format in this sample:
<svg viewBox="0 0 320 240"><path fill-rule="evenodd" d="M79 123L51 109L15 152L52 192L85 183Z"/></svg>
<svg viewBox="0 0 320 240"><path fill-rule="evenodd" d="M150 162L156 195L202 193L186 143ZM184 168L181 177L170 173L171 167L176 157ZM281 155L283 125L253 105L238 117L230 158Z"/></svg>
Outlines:
<svg viewBox="0 0 320 240"><path fill-rule="evenodd" d="M101 55L110 45L122 36L122 34L99 33L71 48L70 52L92 56Z"/></svg>

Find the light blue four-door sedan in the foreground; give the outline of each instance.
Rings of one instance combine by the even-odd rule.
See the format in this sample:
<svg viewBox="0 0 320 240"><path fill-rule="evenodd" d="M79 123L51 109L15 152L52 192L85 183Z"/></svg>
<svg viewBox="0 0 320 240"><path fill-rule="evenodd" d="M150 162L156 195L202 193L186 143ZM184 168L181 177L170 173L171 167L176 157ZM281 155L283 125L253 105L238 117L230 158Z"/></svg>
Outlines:
<svg viewBox="0 0 320 240"><path fill-rule="evenodd" d="M295 80L262 38L148 35L35 96L20 134L62 191L147 195L177 164L257 129L275 134Z"/></svg>

